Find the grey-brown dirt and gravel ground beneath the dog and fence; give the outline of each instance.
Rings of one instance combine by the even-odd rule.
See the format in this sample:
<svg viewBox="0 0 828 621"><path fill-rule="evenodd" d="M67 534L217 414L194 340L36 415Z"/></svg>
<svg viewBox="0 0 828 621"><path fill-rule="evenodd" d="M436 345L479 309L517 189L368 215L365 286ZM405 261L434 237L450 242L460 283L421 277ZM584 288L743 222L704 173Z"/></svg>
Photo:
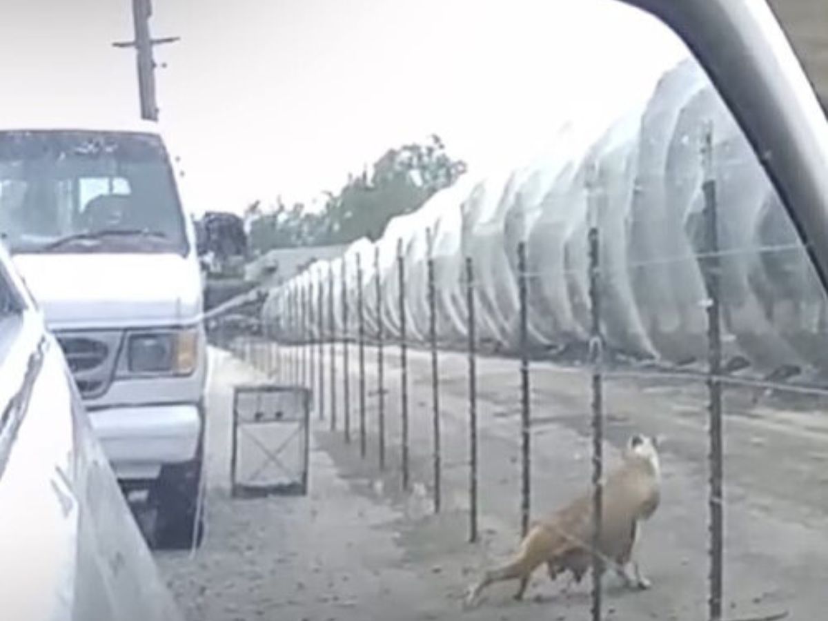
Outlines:
<svg viewBox="0 0 828 621"><path fill-rule="evenodd" d="M352 353L353 349L352 349ZM478 360L479 532L469 544L468 377L462 354L440 354L443 508L431 505L431 373L409 355L411 491L400 476L399 363L386 351L388 467L378 469L376 368L367 352L368 455L359 456L358 383L352 373L352 441L344 442L341 359L338 427L314 421L310 493L301 498L229 497L229 413L234 383L256 373L216 354L209 384L208 531L195 556L159 553L188 619L587 619L589 581L561 593L541 571L514 603L495 585L478 608L460 598L489 563L502 561L519 530L517 363ZM351 371L356 370L356 356ZM821 619L828 605L828 422L824 402L788 412L751 407L727 393L725 422L725 614L787 613ZM330 375L325 386L330 398ZM532 508L546 513L590 480L589 379L580 370L532 367ZM640 556L652 579L641 593L606 580L606 619L706 618L705 388L610 379L611 462L633 430L666 436L662 506L643 530ZM765 402L763 402L765 403Z"/></svg>

